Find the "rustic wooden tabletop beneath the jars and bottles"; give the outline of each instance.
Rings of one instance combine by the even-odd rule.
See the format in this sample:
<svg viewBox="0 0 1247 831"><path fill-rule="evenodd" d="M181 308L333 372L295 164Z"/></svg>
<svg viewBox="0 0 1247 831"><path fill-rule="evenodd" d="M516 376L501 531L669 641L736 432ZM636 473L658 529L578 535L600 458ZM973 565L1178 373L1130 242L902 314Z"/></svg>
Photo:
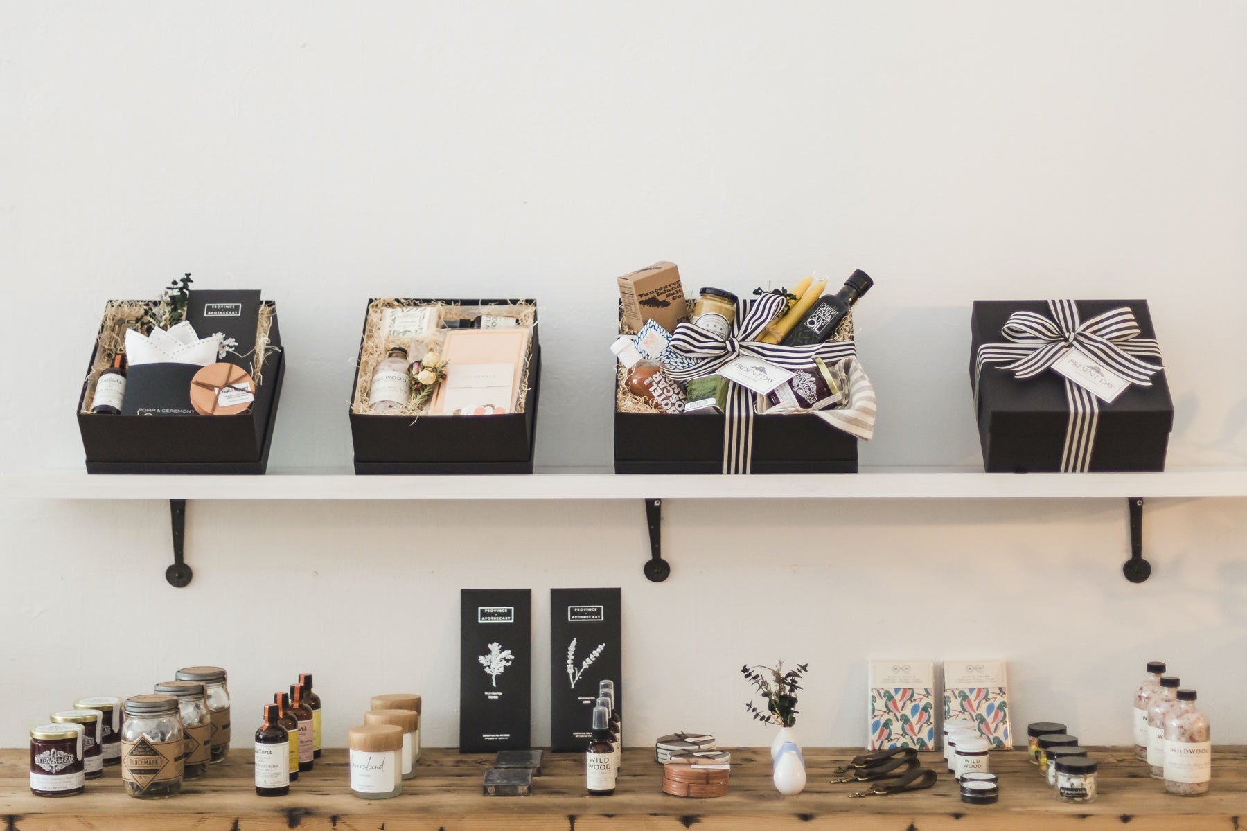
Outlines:
<svg viewBox="0 0 1247 831"><path fill-rule="evenodd" d="M940 774L934 789L848 799L859 789L831 784L831 771L855 753L807 750L806 792L784 797L771 785L766 749L733 750L732 792L691 800L658 791L661 774L652 749L625 751L619 790L607 797L585 794L577 755L547 753L531 796L485 797L481 777L491 757L425 750L419 775L403 784L402 796L368 801L350 795L343 750L327 750L315 770L292 785L289 796L261 799L252 785L249 754L236 748L207 779L187 782L180 796L147 801L126 796L116 767L87 782L81 796L36 797L27 786L26 751L4 750L0 831L687 831L695 826L696 831L1237 831L1240 815L1247 825L1247 748L1216 749L1213 791L1196 799L1166 795L1127 750L1099 749L1094 755L1100 761L1100 799L1090 805L1057 801L1023 751L991 754L1000 775L996 805L963 804L938 754L923 754L924 764Z"/></svg>

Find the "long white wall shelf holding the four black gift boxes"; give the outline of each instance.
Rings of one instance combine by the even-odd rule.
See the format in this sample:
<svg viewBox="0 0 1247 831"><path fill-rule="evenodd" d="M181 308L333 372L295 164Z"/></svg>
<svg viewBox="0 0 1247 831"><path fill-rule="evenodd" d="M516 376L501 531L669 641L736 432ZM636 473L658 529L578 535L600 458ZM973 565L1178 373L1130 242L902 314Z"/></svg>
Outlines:
<svg viewBox="0 0 1247 831"><path fill-rule="evenodd" d="M792 476L615 475L546 468L531 476L355 476L272 470L267 476L125 476L64 470L0 475L0 497L52 500L945 500L1247 496L1247 468L1165 473L984 473L863 468Z"/></svg>

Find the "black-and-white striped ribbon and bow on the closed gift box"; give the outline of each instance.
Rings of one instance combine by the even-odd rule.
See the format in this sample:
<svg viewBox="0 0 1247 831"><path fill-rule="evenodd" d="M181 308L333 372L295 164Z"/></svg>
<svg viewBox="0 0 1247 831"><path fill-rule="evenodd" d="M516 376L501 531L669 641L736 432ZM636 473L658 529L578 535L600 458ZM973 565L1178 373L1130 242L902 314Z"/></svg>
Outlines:
<svg viewBox="0 0 1247 831"><path fill-rule="evenodd" d="M974 402L979 402L979 379L985 364L1000 365L1020 381L1049 370L1067 353L1077 349L1122 379L1139 386L1151 386L1151 378L1165 369L1143 358L1161 356L1155 338L1141 338L1139 321L1129 306L1111 309L1081 320L1074 300L1049 300L1051 318L1036 311L1009 315L1000 334L1009 343L979 346L974 376ZM1065 399L1070 421L1061 452L1062 473L1085 473L1091 466L1096 430L1100 426L1100 400L1087 389L1065 379Z"/></svg>

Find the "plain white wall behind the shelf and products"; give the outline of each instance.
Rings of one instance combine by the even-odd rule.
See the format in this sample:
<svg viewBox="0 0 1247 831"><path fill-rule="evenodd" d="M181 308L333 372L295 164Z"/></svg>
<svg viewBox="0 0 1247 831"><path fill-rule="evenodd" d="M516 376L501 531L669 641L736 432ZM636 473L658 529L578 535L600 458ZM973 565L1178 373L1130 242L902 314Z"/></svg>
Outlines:
<svg viewBox="0 0 1247 831"><path fill-rule="evenodd" d="M190 270L263 287L289 371L274 467L344 466L367 298L531 295L539 463L607 465L614 277L748 292L864 268L870 465L974 465L975 298L1143 297L1172 466L1247 463L1247 6L1233 2L0 5L2 470L79 467L102 304ZM0 745L77 695L219 663L246 743L312 670L342 744L368 695L456 738L461 587L622 586L630 738L761 744L737 668L811 664L808 744L864 738L868 657L1010 662L1015 726L1129 740L1147 659L1247 743L1242 501L0 503ZM296 593L301 598L294 602ZM1054 613L1056 619L1054 620ZM378 618L400 623L374 628Z"/></svg>

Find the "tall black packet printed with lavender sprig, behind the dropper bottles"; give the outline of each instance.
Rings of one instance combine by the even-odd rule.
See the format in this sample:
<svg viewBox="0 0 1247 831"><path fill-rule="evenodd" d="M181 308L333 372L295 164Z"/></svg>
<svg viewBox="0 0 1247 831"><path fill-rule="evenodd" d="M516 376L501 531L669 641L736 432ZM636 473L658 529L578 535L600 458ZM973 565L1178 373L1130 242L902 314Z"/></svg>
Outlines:
<svg viewBox="0 0 1247 831"><path fill-rule="evenodd" d="M599 681L615 681L624 711L622 633L617 588L550 589L550 748L589 746Z"/></svg>

